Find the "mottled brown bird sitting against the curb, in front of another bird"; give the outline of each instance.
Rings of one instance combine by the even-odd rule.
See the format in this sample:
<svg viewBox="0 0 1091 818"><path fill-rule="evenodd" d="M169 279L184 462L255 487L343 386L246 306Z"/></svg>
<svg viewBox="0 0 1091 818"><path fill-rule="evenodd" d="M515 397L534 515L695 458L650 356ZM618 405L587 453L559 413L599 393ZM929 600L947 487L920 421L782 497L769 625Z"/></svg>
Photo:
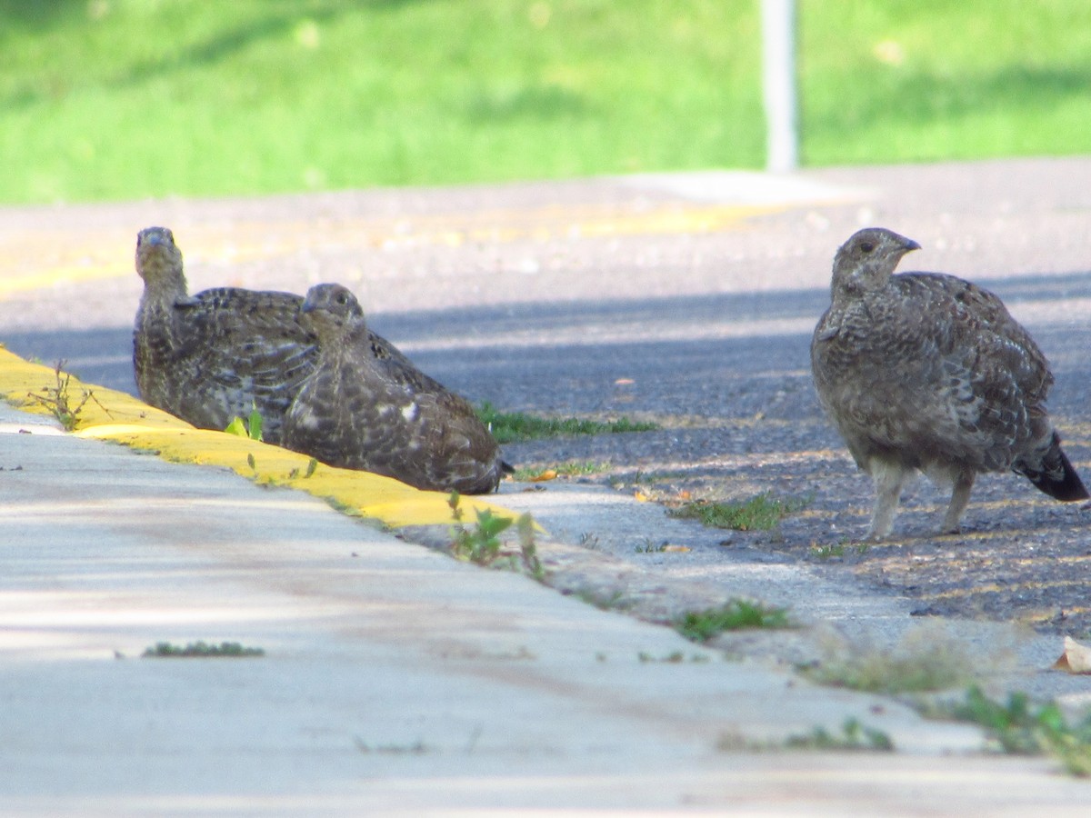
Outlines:
<svg viewBox="0 0 1091 818"><path fill-rule="evenodd" d="M321 358L288 410L287 447L418 489L496 489L509 467L473 407L419 370L372 354L351 292L312 287L303 312L319 334Z"/></svg>

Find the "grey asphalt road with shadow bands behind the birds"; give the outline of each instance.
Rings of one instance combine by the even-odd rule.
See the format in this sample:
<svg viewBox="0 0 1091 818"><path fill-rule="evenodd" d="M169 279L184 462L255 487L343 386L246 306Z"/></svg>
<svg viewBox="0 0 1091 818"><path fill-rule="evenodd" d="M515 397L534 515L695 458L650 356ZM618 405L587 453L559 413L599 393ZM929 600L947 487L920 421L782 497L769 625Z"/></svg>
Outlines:
<svg viewBox="0 0 1091 818"><path fill-rule="evenodd" d="M0 340L132 392L135 234L166 225L193 291L337 280L472 400L662 425L511 445L513 462L592 462L583 480L668 505L763 492L806 505L774 532L688 553L656 551L656 530L586 532L620 557L684 577L745 551L908 596L921 615L1084 636L1088 512L1015 476L980 481L956 537L933 536L946 497L921 481L900 539L855 548L872 490L822 417L807 349L835 249L890 227L923 246L903 269L971 278L1031 329L1066 449L1091 478L1089 182L1091 158L1072 158L7 208Z"/></svg>

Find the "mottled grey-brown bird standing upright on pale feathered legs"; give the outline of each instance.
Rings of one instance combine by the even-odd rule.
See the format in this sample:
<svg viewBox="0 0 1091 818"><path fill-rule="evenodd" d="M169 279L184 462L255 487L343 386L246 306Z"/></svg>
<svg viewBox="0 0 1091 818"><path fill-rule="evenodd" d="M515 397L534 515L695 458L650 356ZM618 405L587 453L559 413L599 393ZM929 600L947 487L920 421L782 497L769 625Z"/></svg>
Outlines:
<svg viewBox="0 0 1091 818"><path fill-rule="evenodd" d="M1045 356L988 290L940 273L894 275L920 245L882 228L834 258L832 303L811 341L815 387L875 482L868 536L889 536L915 470L954 484L957 532L978 473L1012 470L1060 501L1088 497L1045 409Z"/></svg>

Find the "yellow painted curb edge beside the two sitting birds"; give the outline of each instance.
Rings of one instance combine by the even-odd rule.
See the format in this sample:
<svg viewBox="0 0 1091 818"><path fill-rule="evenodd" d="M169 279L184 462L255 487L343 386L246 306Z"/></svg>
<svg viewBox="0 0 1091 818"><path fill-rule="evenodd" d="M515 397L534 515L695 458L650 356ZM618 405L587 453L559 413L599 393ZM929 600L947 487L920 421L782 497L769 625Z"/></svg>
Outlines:
<svg viewBox="0 0 1091 818"><path fill-rule="evenodd" d="M154 452L173 462L226 467L262 485L301 489L350 514L387 526L452 521L447 494L419 491L392 478L322 464L307 477L311 458L305 455L226 432L195 429L125 393L85 385L67 374L62 377L69 377L64 393L70 407L80 406L86 397L75 421L73 433L77 437L113 441ZM55 412L47 402L57 399L59 388L53 369L31 363L0 348L0 395L8 402L24 411L52 417ZM464 496L460 507L467 521L473 520L475 512L484 509L504 517L518 516L478 497Z"/></svg>

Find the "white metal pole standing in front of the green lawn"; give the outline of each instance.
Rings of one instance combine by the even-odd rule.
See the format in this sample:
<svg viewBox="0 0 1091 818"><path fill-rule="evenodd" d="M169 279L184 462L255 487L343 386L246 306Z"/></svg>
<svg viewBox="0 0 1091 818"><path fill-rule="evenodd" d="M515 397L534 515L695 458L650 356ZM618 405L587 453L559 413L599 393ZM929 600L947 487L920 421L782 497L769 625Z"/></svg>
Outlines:
<svg viewBox="0 0 1091 818"><path fill-rule="evenodd" d="M762 0L762 84L766 168L794 170L799 165L794 0Z"/></svg>

